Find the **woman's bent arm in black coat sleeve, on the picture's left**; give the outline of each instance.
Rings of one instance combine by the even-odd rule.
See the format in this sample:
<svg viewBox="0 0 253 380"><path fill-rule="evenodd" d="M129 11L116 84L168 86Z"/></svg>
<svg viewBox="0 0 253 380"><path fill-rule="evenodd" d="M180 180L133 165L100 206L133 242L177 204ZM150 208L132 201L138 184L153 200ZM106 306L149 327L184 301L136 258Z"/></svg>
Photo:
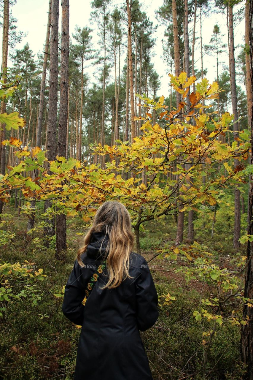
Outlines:
<svg viewBox="0 0 253 380"><path fill-rule="evenodd" d="M85 288L82 278L82 268L76 260L65 286L62 312L71 322L79 326L82 326L84 318L85 306L82 304L84 296Z"/></svg>

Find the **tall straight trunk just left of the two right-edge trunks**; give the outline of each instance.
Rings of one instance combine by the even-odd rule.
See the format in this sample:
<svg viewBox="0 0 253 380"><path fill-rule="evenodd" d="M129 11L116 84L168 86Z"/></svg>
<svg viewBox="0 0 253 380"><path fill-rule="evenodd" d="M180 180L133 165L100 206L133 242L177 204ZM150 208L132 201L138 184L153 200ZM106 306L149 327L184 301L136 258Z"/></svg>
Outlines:
<svg viewBox="0 0 253 380"><path fill-rule="evenodd" d="M236 96L236 65L234 59L234 27L233 27L233 7L230 5L228 7L228 18L229 18L229 59L230 59L230 87L231 87L231 98L232 98L232 110L234 114L234 121L238 120L237 111L237 96ZM239 125L238 122L233 124L234 127L234 140L239 138ZM237 141L237 144L239 141ZM234 169L239 165L237 159L234 160ZM240 247L240 191L237 186L235 186L235 197L234 197L234 240L233 245L235 249Z"/></svg>

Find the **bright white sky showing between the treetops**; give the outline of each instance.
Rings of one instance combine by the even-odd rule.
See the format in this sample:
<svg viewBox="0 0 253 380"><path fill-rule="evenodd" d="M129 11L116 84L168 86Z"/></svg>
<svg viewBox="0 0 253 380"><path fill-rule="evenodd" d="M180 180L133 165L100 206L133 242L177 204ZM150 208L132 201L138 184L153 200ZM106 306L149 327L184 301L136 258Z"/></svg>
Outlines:
<svg viewBox="0 0 253 380"><path fill-rule="evenodd" d="M155 19L155 10L163 4L163 0L146 0L140 1L143 4L143 10L147 13L150 19L154 24L158 24ZM112 0L111 9L117 5L120 7L122 0ZM27 32L27 36L23 38L21 44L16 46L17 49L21 49L26 42L29 43L30 49L36 54L39 51L43 50L43 45L45 43L46 37L46 24L47 24L47 11L48 11L48 0L17 0L17 4L12 7L13 16L17 18L17 27L18 30ZM90 18L90 1L89 0L70 0L70 36L74 32L75 25L80 27L90 26L95 28L95 24L91 25ZM234 9L236 12L236 8ZM61 1L59 2L59 31L61 28ZM198 21L198 20L197 20ZM210 38L212 36L213 26L218 23L220 25L221 32L225 34L224 43L227 43L227 26L226 26L226 17L221 14L209 13L208 19L203 18L203 44L209 44ZM196 36L199 36L199 21L196 25ZM192 25L190 24L190 28ZM240 48L237 47L240 44L244 44L244 28L245 21L240 22L239 25L234 25L234 39L235 39L235 54L239 54ZM1 32L2 33L2 32ZM159 26L156 32L157 42L154 46L155 57L152 57L152 62L155 63L155 69L161 78L161 88L158 90L158 95L164 95L167 97L169 95L169 77L166 74L166 64L164 63L161 55L163 54L162 48L162 38L164 37L164 27ZM1 36L2 40L2 36ZM98 36L96 35L96 30L93 32L93 44L96 46L98 41ZM36 56L35 56L36 58ZM200 42L199 39L196 41L195 47L195 70L200 68ZM228 54L221 54L221 62L225 62L228 66ZM122 60L123 61L123 60ZM209 55L204 56L204 68L208 69L207 78L209 82L212 82L215 78L216 68L215 68L215 58L210 57ZM122 62L123 67L123 62ZM95 67L87 68L87 71L90 75L90 84L93 81L93 73ZM222 68L220 67L220 71ZM238 83L239 84L239 83Z"/></svg>

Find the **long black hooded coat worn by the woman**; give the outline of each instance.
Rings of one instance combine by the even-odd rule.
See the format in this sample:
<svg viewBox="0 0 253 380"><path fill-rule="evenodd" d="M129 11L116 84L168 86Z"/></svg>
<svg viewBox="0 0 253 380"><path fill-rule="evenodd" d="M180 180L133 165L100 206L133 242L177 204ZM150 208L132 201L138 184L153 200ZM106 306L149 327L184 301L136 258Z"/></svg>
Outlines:
<svg viewBox="0 0 253 380"><path fill-rule="evenodd" d="M158 318L158 296L147 261L130 254L130 275L114 289L99 288L107 282L102 273L85 306L85 287L101 263L104 233L92 234L92 241L77 260L66 283L62 311L76 325L82 325L74 380L153 380L139 330L145 331ZM108 242L101 249L102 253ZM104 272L107 274L106 269Z"/></svg>

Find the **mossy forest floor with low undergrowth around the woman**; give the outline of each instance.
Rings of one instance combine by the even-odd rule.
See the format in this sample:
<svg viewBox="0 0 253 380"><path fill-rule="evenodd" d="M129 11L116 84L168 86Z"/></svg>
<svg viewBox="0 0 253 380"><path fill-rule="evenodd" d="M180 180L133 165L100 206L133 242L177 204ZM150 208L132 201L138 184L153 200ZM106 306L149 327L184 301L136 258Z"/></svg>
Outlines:
<svg viewBox="0 0 253 380"><path fill-rule="evenodd" d="M33 240L35 237L41 239L43 231L35 231L32 238L27 236L26 215L18 217L16 210L13 212L9 207L5 212L14 214L14 217L7 216L5 221L9 232L16 236L2 247L1 260L21 264L24 260L35 262L47 277L39 284L43 296L35 307L31 307L27 299L9 302L5 317L0 319L3 332L0 336L0 378L72 380L80 330L62 314L62 298L55 298L54 294L60 293L66 284L87 229L81 218L68 220L67 262L60 263L55 259L54 242L52 248L45 250L40 240ZM38 221L36 217L36 223ZM196 239L209 247L220 269L239 272L232 250L232 226L231 231L224 229L222 236L216 234L213 240L206 238L208 228L202 228L203 233L196 230ZM222 231L218 224L217 230ZM193 311L199 309L201 293L210 296L210 288L206 284L203 287L197 279L187 283L183 273L175 272L180 266L190 266L188 261L154 258L165 243L173 246L175 236L174 220L161 220L159 226L149 223L140 233L141 255L149 264L158 295L169 293L176 298L168 306L161 302L157 322L141 333L141 337L154 380L202 380L202 332L210 329L212 321L203 321L201 325ZM244 254L245 247L242 247L237 255ZM242 374L239 348L240 326L231 325L224 319L208 354L206 379L239 380Z"/></svg>

